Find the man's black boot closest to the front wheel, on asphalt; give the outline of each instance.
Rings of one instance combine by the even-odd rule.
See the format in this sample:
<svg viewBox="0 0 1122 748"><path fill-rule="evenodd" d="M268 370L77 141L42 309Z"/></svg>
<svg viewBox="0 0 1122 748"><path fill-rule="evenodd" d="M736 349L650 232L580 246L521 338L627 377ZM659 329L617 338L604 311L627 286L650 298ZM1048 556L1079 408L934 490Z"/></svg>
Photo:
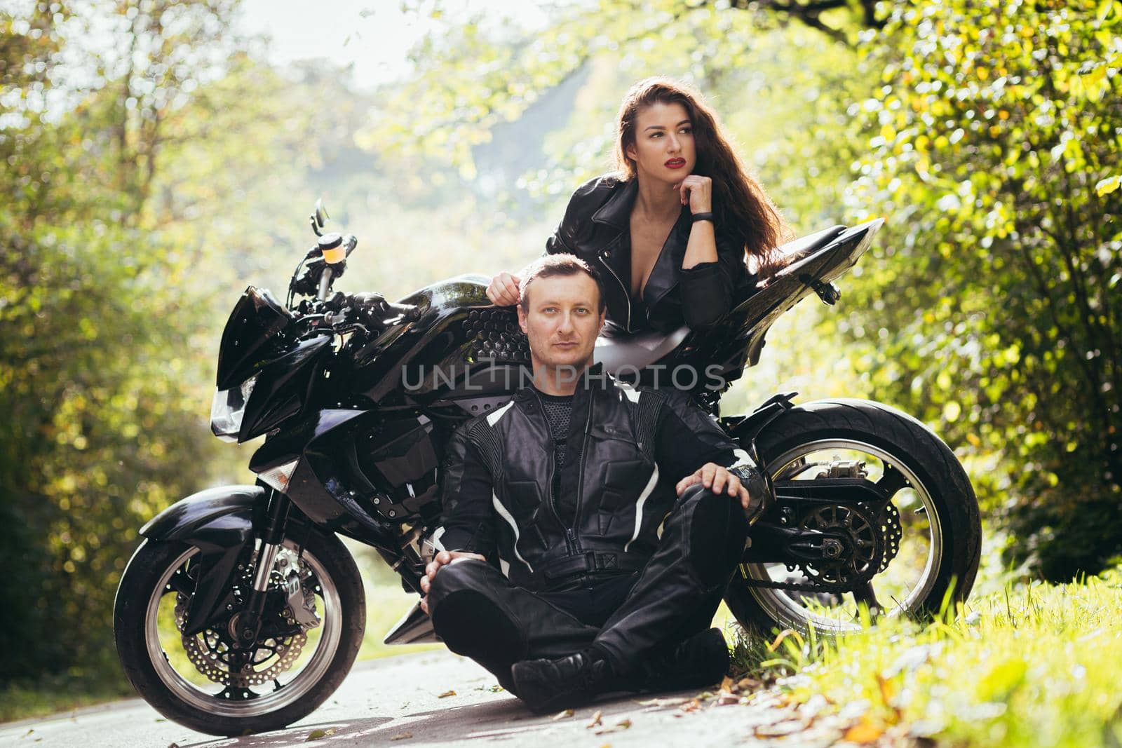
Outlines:
<svg viewBox="0 0 1122 748"><path fill-rule="evenodd" d="M558 659L524 659L511 668L515 693L531 711L546 714L580 707L615 689L611 665L595 649Z"/></svg>

